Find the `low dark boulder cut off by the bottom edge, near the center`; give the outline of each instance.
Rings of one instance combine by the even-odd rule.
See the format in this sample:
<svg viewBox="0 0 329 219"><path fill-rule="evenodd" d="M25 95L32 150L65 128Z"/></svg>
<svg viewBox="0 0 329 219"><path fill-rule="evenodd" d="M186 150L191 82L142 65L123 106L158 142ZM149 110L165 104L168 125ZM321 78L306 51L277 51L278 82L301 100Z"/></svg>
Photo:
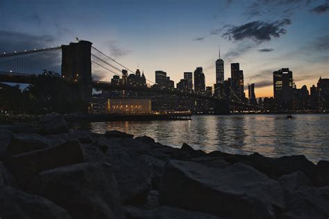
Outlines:
<svg viewBox="0 0 329 219"><path fill-rule="evenodd" d="M162 206L147 211L137 207L126 206L125 211L127 219L219 219L208 213L187 211L169 206Z"/></svg>

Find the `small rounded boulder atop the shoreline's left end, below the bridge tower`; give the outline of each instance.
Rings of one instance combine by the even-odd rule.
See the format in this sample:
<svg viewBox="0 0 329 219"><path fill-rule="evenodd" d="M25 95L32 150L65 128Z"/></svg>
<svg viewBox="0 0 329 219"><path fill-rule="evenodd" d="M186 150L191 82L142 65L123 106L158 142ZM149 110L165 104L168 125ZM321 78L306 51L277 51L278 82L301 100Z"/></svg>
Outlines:
<svg viewBox="0 0 329 219"><path fill-rule="evenodd" d="M62 116L47 115L40 119L42 130L45 134L61 134L69 132L67 123Z"/></svg>

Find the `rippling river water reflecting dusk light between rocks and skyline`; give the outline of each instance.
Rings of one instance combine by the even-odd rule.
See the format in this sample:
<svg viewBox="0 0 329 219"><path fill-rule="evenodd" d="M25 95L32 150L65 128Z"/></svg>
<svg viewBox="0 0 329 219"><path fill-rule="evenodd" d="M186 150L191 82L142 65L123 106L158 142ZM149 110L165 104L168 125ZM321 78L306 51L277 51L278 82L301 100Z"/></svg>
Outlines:
<svg viewBox="0 0 329 219"><path fill-rule="evenodd" d="M180 147L184 142L205 152L264 156L305 155L311 161L329 159L329 115L192 116L192 121L129 121L90 123L92 132L119 130L147 135L162 144Z"/></svg>

